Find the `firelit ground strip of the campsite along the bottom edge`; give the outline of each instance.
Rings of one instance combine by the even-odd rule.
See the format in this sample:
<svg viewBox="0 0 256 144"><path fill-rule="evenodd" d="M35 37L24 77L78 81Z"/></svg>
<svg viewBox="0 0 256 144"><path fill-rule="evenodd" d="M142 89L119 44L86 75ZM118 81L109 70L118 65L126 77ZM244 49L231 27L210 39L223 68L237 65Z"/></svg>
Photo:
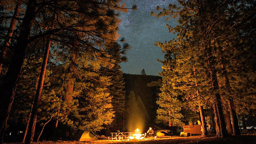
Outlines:
<svg viewBox="0 0 256 144"><path fill-rule="evenodd" d="M256 144L256 135L231 136L230 138L216 138L215 136L169 136L164 138L133 140L133 141L116 141L109 142L108 140L94 140L88 142L78 141L46 141L34 142L33 144ZM10 144L10 143L6 143ZM22 143L15 143L22 144Z"/></svg>

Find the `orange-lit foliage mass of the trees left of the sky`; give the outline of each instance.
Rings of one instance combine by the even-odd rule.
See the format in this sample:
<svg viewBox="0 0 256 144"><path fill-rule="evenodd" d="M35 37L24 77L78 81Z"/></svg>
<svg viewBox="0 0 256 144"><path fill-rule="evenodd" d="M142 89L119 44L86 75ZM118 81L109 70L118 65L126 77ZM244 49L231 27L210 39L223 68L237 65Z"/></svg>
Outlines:
<svg viewBox="0 0 256 144"><path fill-rule="evenodd" d="M7 6L2 7L2 4ZM1 38L6 34L15 4L16 1L11 1L10 4L1 2L0 20L5 22L5 26L1 23L3 28ZM11 61L10 65L15 67L17 72L13 72L12 74L16 75L10 75L10 77L18 77L22 68L23 63L14 66L17 61L23 62L22 58L25 55L42 57L41 53L44 51L46 42L51 40L48 72L38 110L40 126L49 118L58 119L61 126L67 127L66 134L69 136L76 130L103 129L103 125L110 124L114 117L112 98L115 100L116 112L124 110L122 72L118 71L118 75L104 74L100 70L106 67L110 70L113 68L114 72L120 68L117 62L127 60L123 54L130 46L127 43L123 43L122 46L118 43L117 31L121 22L118 13L127 12L128 8L121 0L45 2L28 0L22 2L22 8L25 9L22 9L19 14L19 25L22 28L19 27L20 29L14 34L16 39L11 42L14 49L20 50L16 55L22 56L18 60L15 59L16 61ZM132 9L135 10L136 6L134 5ZM8 18L4 17L7 16L6 14ZM55 14L56 18L52 18ZM23 20L24 18L27 19ZM25 40L22 41L22 38ZM124 42L124 38L121 38L121 41ZM27 46L28 44L30 45ZM11 49L8 50L7 53L11 53ZM33 69L27 69L24 66L24 78L21 79L28 81L31 79L31 82L36 83L38 78L34 78L34 74L37 76L38 71L34 72ZM29 85L30 82L27 84ZM31 94L26 96L26 94L34 93L32 87L34 86L35 89L36 84L30 84L30 86L27 84L25 81L22 82L17 90L28 90L28 92L16 92L16 94L19 94L19 99L24 98L24 103L28 103L29 107L32 103L29 100L33 99L31 98L33 96ZM111 85L115 89L111 89ZM6 96L8 97L10 96ZM27 99L29 102L26 102ZM122 102L117 104L116 101ZM17 102L17 105L22 102ZM28 112L30 110L28 107L24 111ZM59 114L58 111L60 111Z"/></svg>

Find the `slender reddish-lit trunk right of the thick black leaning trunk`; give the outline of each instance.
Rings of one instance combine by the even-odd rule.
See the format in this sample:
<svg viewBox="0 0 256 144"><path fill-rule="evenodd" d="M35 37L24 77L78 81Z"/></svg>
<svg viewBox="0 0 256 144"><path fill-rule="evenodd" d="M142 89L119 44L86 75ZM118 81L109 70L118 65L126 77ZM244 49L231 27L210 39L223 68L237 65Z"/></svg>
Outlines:
<svg viewBox="0 0 256 144"><path fill-rule="evenodd" d="M57 15L54 12L54 15L52 16L52 27L50 30L54 29L54 20L56 19ZM39 102L40 102L40 98L42 95L42 90L43 90L43 85L44 85L44 76L46 73L46 66L47 66L47 62L48 62L48 57L49 57L49 52L50 52L50 46L51 46L51 38L52 35L49 36L49 40L47 42L45 51L44 51L44 59L42 62L42 67L41 67L41 72L40 72L40 78L38 81L38 87L36 90L36 95L35 95L35 99L34 99L34 105L32 108L32 114L31 114L31 120L29 123L29 129L28 129L28 139L25 141L26 144L31 144L34 140L34 134L35 134L35 128L36 128L36 118L37 118L37 110L38 110L38 106L39 106Z"/></svg>

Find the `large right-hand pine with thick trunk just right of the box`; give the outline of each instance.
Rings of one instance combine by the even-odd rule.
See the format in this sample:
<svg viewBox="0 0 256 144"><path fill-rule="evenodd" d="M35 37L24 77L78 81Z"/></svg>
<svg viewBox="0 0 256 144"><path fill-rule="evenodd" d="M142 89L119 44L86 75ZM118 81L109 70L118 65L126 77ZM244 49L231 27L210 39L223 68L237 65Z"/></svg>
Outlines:
<svg viewBox="0 0 256 144"><path fill-rule="evenodd" d="M191 83L194 83L194 80L190 78L193 66L196 68L198 78L200 78L198 84L206 86L200 86L200 93L203 94L202 96L210 96L209 99L212 98L214 102L217 136L227 137L220 99L222 93L220 93L218 83L218 80L221 79L218 74L221 70L221 61L218 58L222 56L218 48L226 46L226 42L230 41L229 34L236 25L236 21L230 21L229 18L236 18L232 11L239 4L236 1L223 3L207 0L180 1L179 4L180 7L170 4L169 9L158 7L158 10L162 10L158 16L170 16L171 18L178 16L180 23L175 28L168 26L170 32L177 32L178 38L168 43L158 43L158 46L162 47L163 51L177 54L174 74L176 73L176 76L180 78L174 79L173 82L190 82L190 86L192 86ZM231 49L228 50L231 54ZM234 51L234 53L236 52L239 51ZM225 60L228 59L225 58Z"/></svg>

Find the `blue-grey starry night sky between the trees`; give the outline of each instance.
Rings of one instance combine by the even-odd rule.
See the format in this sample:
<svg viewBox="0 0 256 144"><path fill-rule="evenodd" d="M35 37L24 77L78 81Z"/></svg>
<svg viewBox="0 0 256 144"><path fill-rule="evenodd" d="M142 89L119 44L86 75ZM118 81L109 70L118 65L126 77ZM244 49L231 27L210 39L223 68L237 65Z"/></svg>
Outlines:
<svg viewBox="0 0 256 144"><path fill-rule="evenodd" d="M176 26L176 20L167 21L165 17L157 18L151 16L156 6L167 8L168 4L176 0L122 0L126 7L137 5L137 10L129 10L120 13L122 23L120 25L120 37L124 37L130 44L127 50L128 62L122 62L121 70L126 74L140 74L144 68L146 75L158 76L162 72L162 64L157 60L164 59L164 53L155 42L165 42L175 38L174 34L168 32L165 24ZM157 12L156 12L157 13Z"/></svg>

